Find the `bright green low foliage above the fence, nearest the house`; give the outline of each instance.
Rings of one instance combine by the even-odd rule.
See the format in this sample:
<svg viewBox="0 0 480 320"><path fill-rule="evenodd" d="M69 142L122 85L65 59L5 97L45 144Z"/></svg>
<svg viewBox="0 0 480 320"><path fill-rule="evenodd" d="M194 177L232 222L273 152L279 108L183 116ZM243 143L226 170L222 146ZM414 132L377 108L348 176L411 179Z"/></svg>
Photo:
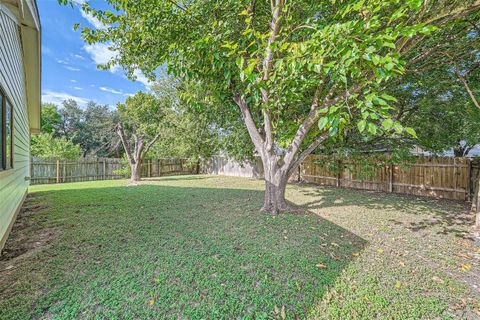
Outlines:
<svg viewBox="0 0 480 320"><path fill-rule="evenodd" d="M31 154L44 159L74 160L81 155L81 148L66 137L54 137L53 133L32 136Z"/></svg>

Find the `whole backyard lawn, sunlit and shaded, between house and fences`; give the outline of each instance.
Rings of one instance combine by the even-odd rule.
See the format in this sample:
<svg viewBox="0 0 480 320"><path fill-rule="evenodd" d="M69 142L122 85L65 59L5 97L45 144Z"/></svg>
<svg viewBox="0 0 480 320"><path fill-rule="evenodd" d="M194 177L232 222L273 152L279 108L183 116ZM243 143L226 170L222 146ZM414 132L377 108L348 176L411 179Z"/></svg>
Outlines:
<svg viewBox="0 0 480 320"><path fill-rule="evenodd" d="M476 319L463 203L178 176L33 186L0 258L0 319Z"/></svg>

